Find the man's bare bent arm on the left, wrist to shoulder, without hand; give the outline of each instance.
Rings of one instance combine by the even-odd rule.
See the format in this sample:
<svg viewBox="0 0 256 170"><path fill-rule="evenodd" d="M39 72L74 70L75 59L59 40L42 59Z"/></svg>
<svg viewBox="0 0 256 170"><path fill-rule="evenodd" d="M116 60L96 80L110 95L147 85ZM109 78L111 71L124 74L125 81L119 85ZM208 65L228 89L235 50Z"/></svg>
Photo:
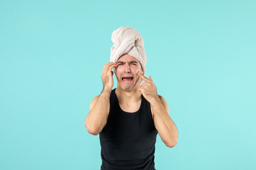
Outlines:
<svg viewBox="0 0 256 170"><path fill-rule="evenodd" d="M93 100L96 100L94 97L90 104L90 112L85 118L85 127L92 135L98 135L106 124L110 93L111 90L103 88L98 99L96 98L96 103L94 104Z"/></svg>

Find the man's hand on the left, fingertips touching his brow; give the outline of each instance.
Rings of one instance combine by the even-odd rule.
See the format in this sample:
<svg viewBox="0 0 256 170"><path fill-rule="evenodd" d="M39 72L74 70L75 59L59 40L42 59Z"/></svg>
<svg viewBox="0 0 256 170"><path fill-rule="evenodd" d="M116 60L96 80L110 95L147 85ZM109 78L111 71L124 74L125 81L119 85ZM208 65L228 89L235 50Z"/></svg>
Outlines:
<svg viewBox="0 0 256 170"><path fill-rule="evenodd" d="M107 64L104 65L102 73L101 73L103 88L105 88L108 91L111 91L114 86L114 80L113 80L114 72L111 71L111 69L116 66L117 66L117 63L108 62Z"/></svg>

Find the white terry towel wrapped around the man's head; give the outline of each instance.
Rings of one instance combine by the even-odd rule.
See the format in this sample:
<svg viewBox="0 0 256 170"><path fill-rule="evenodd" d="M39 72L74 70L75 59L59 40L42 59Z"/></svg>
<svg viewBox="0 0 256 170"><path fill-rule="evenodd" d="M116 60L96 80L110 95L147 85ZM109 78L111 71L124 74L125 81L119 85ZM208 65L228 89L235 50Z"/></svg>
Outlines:
<svg viewBox="0 0 256 170"><path fill-rule="evenodd" d="M110 62L117 62L119 57L127 53L141 63L144 72L143 75L145 75L147 56L144 49L144 41L140 33L130 26L122 26L113 31L111 40L114 45L110 50ZM113 69L115 72L115 67ZM140 84L143 82L144 80L141 79Z"/></svg>

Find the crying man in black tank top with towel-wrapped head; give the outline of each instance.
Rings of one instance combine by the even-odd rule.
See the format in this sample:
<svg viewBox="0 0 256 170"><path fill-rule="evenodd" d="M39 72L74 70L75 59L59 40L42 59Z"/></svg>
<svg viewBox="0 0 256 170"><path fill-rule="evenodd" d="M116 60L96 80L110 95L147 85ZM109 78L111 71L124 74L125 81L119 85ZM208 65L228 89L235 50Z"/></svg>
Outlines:
<svg viewBox="0 0 256 170"><path fill-rule="evenodd" d="M90 134L99 134L101 170L155 170L157 133L173 147L178 131L153 79L144 76L147 58L139 32L123 26L112 33L112 41L110 62L101 74L103 90L92 99L85 126Z"/></svg>

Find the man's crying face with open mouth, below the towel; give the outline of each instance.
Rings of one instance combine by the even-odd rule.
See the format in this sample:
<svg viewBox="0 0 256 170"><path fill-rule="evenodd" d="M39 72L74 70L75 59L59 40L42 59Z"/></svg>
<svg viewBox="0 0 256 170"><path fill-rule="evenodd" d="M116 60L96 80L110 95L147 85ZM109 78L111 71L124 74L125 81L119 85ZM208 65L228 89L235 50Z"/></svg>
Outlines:
<svg viewBox="0 0 256 170"><path fill-rule="evenodd" d="M141 77L137 72L143 74L140 62L129 54L124 54L117 60L115 74L117 77L117 85L124 90L131 90L135 86L139 86Z"/></svg>

